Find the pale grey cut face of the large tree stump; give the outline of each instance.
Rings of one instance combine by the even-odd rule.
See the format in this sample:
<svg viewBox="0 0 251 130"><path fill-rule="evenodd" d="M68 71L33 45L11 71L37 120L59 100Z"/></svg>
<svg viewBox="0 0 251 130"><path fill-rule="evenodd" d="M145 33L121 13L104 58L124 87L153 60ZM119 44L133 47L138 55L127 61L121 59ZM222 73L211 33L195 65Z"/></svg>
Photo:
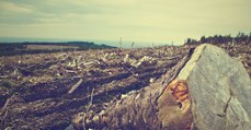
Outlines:
<svg viewBox="0 0 251 130"><path fill-rule="evenodd" d="M197 47L178 79L187 82L198 129L251 128L250 78L243 64L223 49L212 45Z"/></svg>

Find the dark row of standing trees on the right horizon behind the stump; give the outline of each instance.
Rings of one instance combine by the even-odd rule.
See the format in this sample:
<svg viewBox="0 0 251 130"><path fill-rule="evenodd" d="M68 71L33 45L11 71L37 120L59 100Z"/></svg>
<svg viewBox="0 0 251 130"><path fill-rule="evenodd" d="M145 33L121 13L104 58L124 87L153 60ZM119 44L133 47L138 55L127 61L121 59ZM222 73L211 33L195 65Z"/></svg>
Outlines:
<svg viewBox="0 0 251 130"><path fill-rule="evenodd" d="M238 33L236 36L231 35L214 35L214 36L202 36L201 39L196 40L193 38L187 38L185 44L228 44L228 43L236 43L236 44L251 44L251 32L250 34Z"/></svg>

